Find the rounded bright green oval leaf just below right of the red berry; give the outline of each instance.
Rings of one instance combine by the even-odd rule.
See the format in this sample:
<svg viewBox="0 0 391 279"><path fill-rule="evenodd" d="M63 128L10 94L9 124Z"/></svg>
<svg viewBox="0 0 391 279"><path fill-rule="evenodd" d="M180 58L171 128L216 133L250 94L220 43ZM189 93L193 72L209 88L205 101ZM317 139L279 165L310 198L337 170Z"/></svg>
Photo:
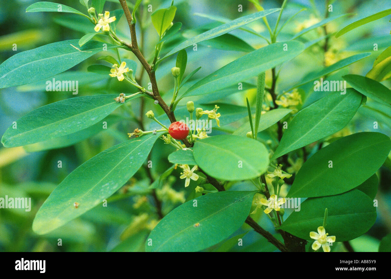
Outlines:
<svg viewBox="0 0 391 279"><path fill-rule="evenodd" d="M217 135L197 140L193 155L204 172L222 180L256 178L269 165L269 153L262 143L233 135Z"/></svg>

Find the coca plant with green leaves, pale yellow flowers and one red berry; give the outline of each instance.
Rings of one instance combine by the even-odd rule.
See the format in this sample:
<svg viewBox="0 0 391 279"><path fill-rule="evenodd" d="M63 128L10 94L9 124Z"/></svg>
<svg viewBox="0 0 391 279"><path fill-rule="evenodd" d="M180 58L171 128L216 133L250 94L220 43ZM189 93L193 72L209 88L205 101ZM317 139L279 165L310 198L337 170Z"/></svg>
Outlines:
<svg viewBox="0 0 391 279"><path fill-rule="evenodd" d="M338 245L351 251L349 241L375 223L376 172L389 165L391 149L389 135L378 132L381 119L372 114L369 124L359 126L357 112L372 109L389 120L391 51L383 41L380 55L377 49L372 55L343 52L337 38L391 11L343 23L335 34L335 21L349 14L333 10L334 1L325 1L325 11L310 6L314 15L294 24L303 10L292 13L289 1L264 9L249 0L247 12L234 7L234 20L198 14L213 24L191 33L176 20L174 1L157 8L119 0L118 9L107 9L115 6L110 2L81 0L84 11L52 2L30 5L26 12L84 17L90 32L17 53L0 66L1 88L37 80L49 86L53 77L47 91L61 91L62 73L87 59L86 75L65 73L75 73L81 84L99 75L116 84L64 95L15 119L2 136L5 147L57 149L105 125L136 123L117 130L127 140L92 156L59 183L32 230L45 235L81 215L131 201L129 224L120 227L114 251L246 251L246 234L254 231L261 236L256 251L330 252ZM129 30L117 26L120 19ZM156 32L146 40L150 23ZM252 29L255 23L265 32ZM151 44L148 53L145 45ZM226 60L228 50L245 54L215 71L197 72L197 60L210 57L195 53L209 47L226 50L220 52ZM316 70L306 67L311 55L321 57ZM367 63L369 55L377 58L365 76L346 68Z"/></svg>

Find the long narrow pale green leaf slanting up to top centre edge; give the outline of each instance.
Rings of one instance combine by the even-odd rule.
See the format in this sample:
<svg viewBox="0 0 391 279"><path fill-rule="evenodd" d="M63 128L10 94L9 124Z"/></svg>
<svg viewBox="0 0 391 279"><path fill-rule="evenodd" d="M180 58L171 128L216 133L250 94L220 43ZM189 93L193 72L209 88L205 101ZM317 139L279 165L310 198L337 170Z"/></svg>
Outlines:
<svg viewBox="0 0 391 279"><path fill-rule="evenodd" d="M179 50L183 50L184 48L187 48L188 46L192 46L193 44L218 37L222 34L229 33L232 30L240 28L240 27L247 25L253 21L256 21L256 20L259 20L260 18L263 18L263 17L267 16L268 14L271 14L273 12L280 11L280 10L281 9L269 9L269 10L265 10L265 11L255 12L253 14L248 14L247 16L242 16L242 17L237 18L233 21L222 24L218 27L215 27L211 30L208 30L202 34L199 34L195 37L192 37L192 38L184 41L183 43L176 46L169 53L167 53L161 60L169 57L170 55L172 55L176 52L179 52ZM261 72L261 71L259 71L259 72Z"/></svg>

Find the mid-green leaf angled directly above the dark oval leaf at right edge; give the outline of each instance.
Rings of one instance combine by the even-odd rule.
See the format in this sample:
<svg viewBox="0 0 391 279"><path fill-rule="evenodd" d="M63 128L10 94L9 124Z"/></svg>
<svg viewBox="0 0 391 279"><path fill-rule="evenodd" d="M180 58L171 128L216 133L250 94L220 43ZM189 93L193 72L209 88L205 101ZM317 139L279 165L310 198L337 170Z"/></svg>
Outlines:
<svg viewBox="0 0 391 279"><path fill-rule="evenodd" d="M344 95L333 92L300 110L288 124L271 160L338 132L353 118L361 100L361 94L349 88Z"/></svg>

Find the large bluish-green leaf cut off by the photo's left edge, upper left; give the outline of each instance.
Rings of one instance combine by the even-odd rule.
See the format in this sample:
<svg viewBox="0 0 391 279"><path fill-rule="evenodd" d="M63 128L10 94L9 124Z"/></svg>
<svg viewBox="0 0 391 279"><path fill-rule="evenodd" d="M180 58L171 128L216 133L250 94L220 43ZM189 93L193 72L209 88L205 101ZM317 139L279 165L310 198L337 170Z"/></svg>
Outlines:
<svg viewBox="0 0 391 279"><path fill-rule="evenodd" d="M103 44L89 41L79 47L79 40L68 40L17 53L0 65L0 88L29 84L62 73L103 51ZM118 46L107 44L108 50L112 48Z"/></svg>

